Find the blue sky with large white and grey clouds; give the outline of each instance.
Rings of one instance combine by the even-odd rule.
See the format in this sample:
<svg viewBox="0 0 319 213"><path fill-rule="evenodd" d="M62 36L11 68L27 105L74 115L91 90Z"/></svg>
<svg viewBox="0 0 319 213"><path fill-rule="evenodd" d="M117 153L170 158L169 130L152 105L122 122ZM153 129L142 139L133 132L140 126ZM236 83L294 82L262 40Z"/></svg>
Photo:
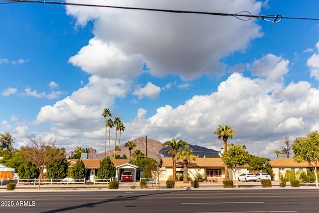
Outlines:
<svg viewBox="0 0 319 213"><path fill-rule="evenodd" d="M317 0L67 2L309 18L319 9ZM274 158L286 136L319 130L319 21L1 3L0 132L17 148L34 134L101 153L104 108L124 122L121 144L148 135L219 150L212 133L226 123L229 143Z"/></svg>

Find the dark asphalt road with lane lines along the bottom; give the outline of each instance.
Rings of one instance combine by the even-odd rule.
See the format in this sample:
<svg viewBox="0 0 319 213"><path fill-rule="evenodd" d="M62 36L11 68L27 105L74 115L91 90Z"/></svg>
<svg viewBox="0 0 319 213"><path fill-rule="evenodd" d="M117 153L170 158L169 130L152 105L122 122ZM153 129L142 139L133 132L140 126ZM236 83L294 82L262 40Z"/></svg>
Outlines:
<svg viewBox="0 0 319 213"><path fill-rule="evenodd" d="M0 193L2 213L318 213L318 189Z"/></svg>

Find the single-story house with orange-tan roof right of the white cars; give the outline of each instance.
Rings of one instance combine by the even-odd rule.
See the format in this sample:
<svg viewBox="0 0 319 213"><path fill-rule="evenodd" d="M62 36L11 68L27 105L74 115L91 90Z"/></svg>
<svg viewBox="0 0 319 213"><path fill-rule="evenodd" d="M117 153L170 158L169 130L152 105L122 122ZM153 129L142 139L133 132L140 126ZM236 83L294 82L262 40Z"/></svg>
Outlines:
<svg viewBox="0 0 319 213"><path fill-rule="evenodd" d="M279 181L279 172L285 174L286 170L295 172L306 172L307 169L313 169L307 162L297 163L293 158L279 158L268 162L275 174L274 180Z"/></svg>

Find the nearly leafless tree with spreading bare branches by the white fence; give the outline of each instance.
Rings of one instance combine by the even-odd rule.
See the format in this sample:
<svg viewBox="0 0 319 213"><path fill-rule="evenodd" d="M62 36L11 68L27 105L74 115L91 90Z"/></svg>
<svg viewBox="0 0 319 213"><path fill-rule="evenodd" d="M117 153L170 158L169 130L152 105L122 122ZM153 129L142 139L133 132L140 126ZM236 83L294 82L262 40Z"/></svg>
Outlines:
<svg viewBox="0 0 319 213"><path fill-rule="evenodd" d="M41 179L43 177L43 170L45 166L50 165L54 161L64 156L65 150L57 149L55 147L56 140L43 141L40 138L37 140L35 137L29 137L27 146L21 149L21 154L24 160L34 164L39 169L39 187L41 186Z"/></svg>

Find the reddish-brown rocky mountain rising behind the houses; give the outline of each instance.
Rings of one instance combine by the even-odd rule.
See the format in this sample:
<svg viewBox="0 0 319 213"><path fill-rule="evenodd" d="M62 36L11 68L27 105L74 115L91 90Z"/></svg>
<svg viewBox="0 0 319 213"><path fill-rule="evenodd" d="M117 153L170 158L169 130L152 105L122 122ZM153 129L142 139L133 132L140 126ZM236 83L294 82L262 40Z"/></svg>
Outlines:
<svg viewBox="0 0 319 213"><path fill-rule="evenodd" d="M167 152L167 147L163 147L163 144L160 143L160 141L150 139L148 138L147 146L148 149L146 150L146 138L145 137L140 137L137 139L132 140L135 144L136 147L133 148L132 153L134 150L140 149L142 153L147 155L149 158L153 158L156 160L160 160L161 157L171 157L171 155L166 156ZM126 155L129 157L129 148L124 147L125 143L120 145L120 150L118 154L120 156ZM200 158L202 158L204 155L217 155L218 152L213 149L208 149L205 147L200 147L200 146L193 146L189 144L189 147L193 150L194 155L198 155ZM111 150L111 156L113 156L114 150ZM66 155L70 155L70 153L67 153ZM105 156L104 152L103 153L90 153L89 154L89 159L103 159ZM106 151L106 156L109 156L109 151Z"/></svg>

